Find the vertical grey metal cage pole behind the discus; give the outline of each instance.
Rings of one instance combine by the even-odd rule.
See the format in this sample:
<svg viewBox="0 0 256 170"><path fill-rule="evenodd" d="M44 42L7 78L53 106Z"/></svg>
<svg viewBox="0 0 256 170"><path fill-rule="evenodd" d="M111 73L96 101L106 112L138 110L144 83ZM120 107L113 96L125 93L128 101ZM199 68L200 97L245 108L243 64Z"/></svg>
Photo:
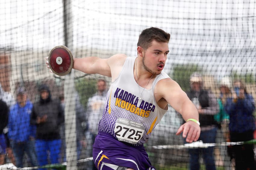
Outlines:
<svg viewBox="0 0 256 170"><path fill-rule="evenodd" d="M65 46L73 51L73 26L71 0L63 0L64 14L64 41ZM65 99L65 141L66 159L69 170L77 169L76 153L76 103L75 103L74 71L65 76L64 99Z"/></svg>

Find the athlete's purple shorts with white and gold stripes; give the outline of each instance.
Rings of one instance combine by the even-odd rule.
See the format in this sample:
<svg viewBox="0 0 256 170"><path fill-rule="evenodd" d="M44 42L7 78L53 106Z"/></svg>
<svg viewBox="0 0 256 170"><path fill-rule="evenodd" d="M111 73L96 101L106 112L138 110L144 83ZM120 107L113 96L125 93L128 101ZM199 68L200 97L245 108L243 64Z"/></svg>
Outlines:
<svg viewBox="0 0 256 170"><path fill-rule="evenodd" d="M113 170L118 167L135 170L154 170L143 145L132 146L118 141L110 134L99 132L92 150L93 161L98 169Z"/></svg>

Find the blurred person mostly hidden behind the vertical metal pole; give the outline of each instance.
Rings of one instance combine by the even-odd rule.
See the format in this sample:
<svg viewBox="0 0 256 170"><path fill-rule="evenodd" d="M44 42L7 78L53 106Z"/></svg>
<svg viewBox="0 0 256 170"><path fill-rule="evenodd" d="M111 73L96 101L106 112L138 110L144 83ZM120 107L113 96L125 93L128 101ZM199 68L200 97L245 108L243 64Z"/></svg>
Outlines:
<svg viewBox="0 0 256 170"><path fill-rule="evenodd" d="M77 92L75 92L75 99L76 99L76 141L77 141L77 159L80 159L81 152L83 148L86 148L86 139L85 139L85 129L84 124L86 124L86 116L83 106L80 103L80 97ZM64 96L60 97L61 106L64 110L65 108L65 101ZM65 123L61 124L61 155L62 160L65 162L66 158L66 147L65 147Z"/></svg>

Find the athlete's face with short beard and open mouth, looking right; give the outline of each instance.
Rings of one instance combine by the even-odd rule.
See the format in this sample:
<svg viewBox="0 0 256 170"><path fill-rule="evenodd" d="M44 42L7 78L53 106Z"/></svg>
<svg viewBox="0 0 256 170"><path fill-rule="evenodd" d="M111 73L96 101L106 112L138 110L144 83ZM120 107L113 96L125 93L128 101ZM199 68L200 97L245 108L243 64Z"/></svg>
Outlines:
<svg viewBox="0 0 256 170"><path fill-rule="evenodd" d="M168 43L153 40L151 46L143 53L143 68L152 74L160 74L164 69L168 53Z"/></svg>

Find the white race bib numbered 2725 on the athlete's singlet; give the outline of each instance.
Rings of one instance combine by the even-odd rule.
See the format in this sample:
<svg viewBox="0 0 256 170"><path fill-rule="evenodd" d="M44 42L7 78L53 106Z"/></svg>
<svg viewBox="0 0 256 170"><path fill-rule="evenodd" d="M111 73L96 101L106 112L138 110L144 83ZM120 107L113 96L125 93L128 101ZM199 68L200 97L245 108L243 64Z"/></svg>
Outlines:
<svg viewBox="0 0 256 170"><path fill-rule="evenodd" d="M129 144L137 144L145 132L145 127L142 123L118 118L114 132L119 141L127 142Z"/></svg>

